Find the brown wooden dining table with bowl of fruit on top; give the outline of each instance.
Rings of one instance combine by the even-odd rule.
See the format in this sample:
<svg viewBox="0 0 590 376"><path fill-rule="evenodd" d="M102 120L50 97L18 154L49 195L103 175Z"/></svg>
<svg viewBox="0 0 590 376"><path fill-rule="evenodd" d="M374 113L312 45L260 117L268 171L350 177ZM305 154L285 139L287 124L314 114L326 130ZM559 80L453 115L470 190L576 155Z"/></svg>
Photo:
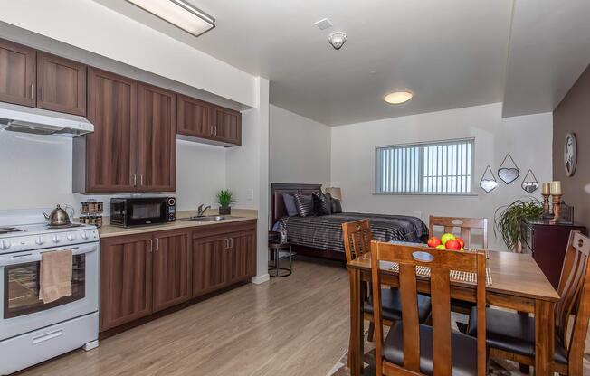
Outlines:
<svg viewBox="0 0 590 376"><path fill-rule="evenodd" d="M486 287L489 305L517 310L535 315L536 358L535 374L552 372L555 346L555 305L559 295L545 274L529 254L489 251L486 267L490 269L491 285ZM352 375L363 371L364 317L363 302L366 299L366 281L371 279L370 253L347 264L350 283L350 341L348 362ZM382 261L380 270L383 283L399 287L399 276L391 270L391 263ZM418 292L430 292L430 278L416 276ZM475 302L475 284L452 281L451 297ZM434 287L436 288L436 287Z"/></svg>

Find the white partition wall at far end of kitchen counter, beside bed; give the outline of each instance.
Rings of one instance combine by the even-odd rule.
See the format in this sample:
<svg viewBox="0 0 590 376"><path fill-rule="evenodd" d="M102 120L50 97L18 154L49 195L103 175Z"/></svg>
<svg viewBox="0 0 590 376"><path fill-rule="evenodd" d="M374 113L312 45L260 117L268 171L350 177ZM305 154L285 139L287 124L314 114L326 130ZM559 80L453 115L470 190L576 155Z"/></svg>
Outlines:
<svg viewBox="0 0 590 376"><path fill-rule="evenodd" d="M268 280L269 81L257 78L256 108L242 113L242 146L227 150L227 188L236 206L258 210L257 283Z"/></svg>

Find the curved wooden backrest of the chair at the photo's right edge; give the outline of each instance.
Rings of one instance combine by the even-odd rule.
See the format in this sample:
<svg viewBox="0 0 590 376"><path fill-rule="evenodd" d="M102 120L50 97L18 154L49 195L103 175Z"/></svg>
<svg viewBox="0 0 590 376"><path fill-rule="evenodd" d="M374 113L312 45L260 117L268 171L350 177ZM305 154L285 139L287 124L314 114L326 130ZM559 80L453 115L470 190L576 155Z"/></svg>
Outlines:
<svg viewBox="0 0 590 376"><path fill-rule="evenodd" d="M576 319L572 330L572 338L568 346L568 361L581 362L585 347L585 337L590 317L590 276L588 262L590 258L590 239L579 231L572 230L567 243L564 266L559 278L557 292L560 299L556 307L557 335L566 344L569 318L578 305Z"/></svg>

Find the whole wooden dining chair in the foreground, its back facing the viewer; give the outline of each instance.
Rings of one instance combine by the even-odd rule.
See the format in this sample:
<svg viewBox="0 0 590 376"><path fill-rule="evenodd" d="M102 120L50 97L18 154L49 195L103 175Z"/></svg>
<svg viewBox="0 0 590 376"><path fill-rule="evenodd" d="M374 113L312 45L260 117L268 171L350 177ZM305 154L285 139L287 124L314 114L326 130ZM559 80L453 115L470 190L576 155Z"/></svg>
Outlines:
<svg viewBox="0 0 590 376"><path fill-rule="evenodd" d="M402 315L385 336L381 315L382 284L387 283L379 270L380 261L399 265L399 289L402 292ZM479 375L487 371L485 328L478 328L477 338L452 332L450 271L475 273L477 306L481 323L485 323L486 270L484 252L425 249L371 242L371 276L375 321L376 375L434 376ZM433 300L433 325L420 324L417 315L416 268L430 268L427 286Z"/></svg>

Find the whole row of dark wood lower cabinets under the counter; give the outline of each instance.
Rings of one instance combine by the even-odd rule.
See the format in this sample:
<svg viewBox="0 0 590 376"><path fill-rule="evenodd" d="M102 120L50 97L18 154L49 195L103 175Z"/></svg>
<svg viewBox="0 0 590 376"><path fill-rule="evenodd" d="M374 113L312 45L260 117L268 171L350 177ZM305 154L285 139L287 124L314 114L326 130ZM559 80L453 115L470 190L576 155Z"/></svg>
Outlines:
<svg viewBox="0 0 590 376"><path fill-rule="evenodd" d="M100 332L255 273L255 220L106 238L100 246Z"/></svg>

